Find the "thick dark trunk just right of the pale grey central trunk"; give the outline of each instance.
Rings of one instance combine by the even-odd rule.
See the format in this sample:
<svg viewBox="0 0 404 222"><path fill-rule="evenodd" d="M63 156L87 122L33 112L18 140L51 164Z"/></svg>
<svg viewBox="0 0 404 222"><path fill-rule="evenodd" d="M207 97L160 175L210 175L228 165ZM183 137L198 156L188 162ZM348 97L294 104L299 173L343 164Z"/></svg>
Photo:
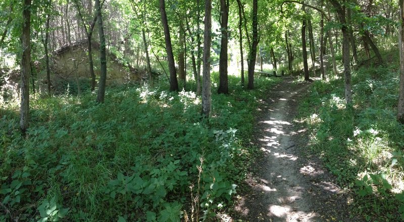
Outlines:
<svg viewBox="0 0 404 222"><path fill-rule="evenodd" d="M227 22L229 16L228 5L229 0L220 0L220 13L221 13L221 43L220 43L220 58L219 58L219 87L218 94L228 94L228 77L227 77Z"/></svg>

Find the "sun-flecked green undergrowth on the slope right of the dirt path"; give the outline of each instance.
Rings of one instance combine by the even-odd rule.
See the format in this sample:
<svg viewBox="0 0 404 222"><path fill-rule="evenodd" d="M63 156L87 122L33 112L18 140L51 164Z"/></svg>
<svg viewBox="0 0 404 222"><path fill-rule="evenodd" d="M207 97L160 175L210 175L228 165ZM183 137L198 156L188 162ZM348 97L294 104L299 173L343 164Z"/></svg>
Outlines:
<svg viewBox="0 0 404 222"><path fill-rule="evenodd" d="M404 219L404 127L396 121L398 67L394 60L384 67L352 71L350 108L345 107L342 76L315 81L299 107L299 117L311 132L313 153L340 186L355 194L349 204L368 221Z"/></svg>

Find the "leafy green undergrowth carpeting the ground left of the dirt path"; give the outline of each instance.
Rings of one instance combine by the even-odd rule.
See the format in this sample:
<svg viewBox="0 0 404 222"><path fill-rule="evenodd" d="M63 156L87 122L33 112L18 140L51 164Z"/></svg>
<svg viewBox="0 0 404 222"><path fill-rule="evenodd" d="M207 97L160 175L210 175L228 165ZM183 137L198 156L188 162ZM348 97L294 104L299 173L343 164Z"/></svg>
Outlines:
<svg viewBox="0 0 404 222"><path fill-rule="evenodd" d="M163 81L107 90L98 105L95 93L33 97L26 138L18 105L0 108L0 221L214 216L246 174L259 99L279 81L259 77L246 91L229 76L229 96L212 88L209 119L200 97L169 93Z"/></svg>

